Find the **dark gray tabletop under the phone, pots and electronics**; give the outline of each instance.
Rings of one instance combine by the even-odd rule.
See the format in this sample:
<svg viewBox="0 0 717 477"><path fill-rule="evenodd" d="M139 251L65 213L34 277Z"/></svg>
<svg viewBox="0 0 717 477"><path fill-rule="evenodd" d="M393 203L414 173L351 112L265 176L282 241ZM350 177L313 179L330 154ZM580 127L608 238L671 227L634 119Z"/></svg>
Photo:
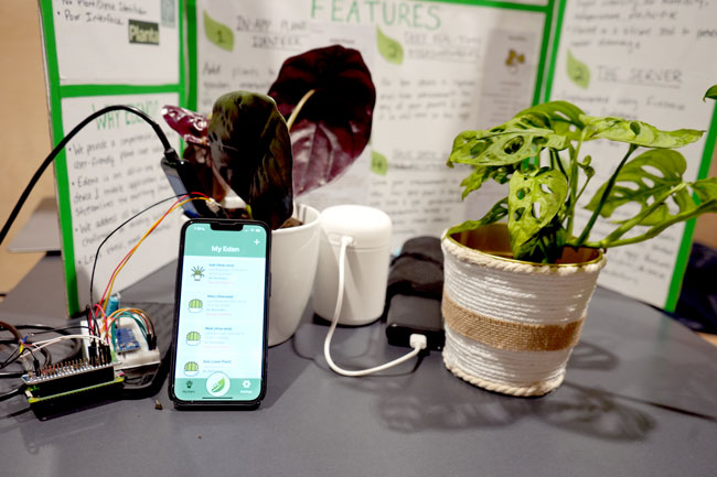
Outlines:
<svg viewBox="0 0 717 477"><path fill-rule="evenodd" d="M170 265L124 297L170 303L172 285ZM47 257L0 305L0 319L62 323L63 290L61 259ZM49 421L21 412L21 397L0 402L0 473L717 475L717 348L619 294L597 290L565 383L537 399L473 388L438 353L385 376L339 377L323 359L327 329L307 312L295 337L269 349L256 411L176 411L167 384ZM405 353L386 344L382 323L340 328L333 349L345 367Z"/></svg>

